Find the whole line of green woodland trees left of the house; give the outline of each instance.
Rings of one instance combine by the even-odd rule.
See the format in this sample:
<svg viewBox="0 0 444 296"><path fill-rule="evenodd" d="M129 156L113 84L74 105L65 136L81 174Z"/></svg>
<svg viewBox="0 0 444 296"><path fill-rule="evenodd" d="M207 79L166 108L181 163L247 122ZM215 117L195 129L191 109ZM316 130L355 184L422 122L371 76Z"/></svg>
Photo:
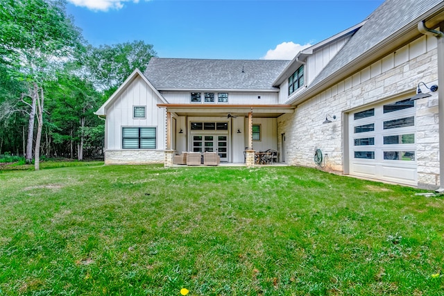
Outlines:
<svg viewBox="0 0 444 296"><path fill-rule="evenodd" d="M94 111L156 53L135 40L92 46L65 0L0 0L0 155L79 160L103 155Z"/></svg>

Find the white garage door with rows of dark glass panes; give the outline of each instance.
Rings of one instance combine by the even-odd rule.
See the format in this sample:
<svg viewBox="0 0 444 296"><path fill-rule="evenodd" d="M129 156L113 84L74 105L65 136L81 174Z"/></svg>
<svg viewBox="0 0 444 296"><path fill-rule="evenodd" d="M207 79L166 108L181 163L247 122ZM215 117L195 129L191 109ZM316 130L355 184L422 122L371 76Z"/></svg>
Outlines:
<svg viewBox="0 0 444 296"><path fill-rule="evenodd" d="M418 184L416 108L402 100L349 115L350 175Z"/></svg>

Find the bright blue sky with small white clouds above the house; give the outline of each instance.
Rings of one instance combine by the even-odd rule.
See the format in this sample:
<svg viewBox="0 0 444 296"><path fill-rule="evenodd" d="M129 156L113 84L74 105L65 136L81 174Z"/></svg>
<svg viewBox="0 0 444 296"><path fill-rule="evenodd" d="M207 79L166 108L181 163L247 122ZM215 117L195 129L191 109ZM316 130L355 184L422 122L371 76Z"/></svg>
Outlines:
<svg viewBox="0 0 444 296"><path fill-rule="evenodd" d="M291 59L382 2L68 0L67 12L94 46L144 40L161 58Z"/></svg>

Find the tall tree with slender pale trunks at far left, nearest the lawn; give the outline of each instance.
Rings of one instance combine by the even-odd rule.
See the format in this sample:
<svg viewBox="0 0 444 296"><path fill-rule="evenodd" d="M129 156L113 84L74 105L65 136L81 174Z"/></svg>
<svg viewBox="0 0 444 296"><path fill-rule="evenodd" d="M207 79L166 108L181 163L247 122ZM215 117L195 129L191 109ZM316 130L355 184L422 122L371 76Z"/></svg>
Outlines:
<svg viewBox="0 0 444 296"><path fill-rule="evenodd" d="M0 0L0 3L0 60L12 76L28 85L28 91L22 94L22 102L28 104L30 110L27 145L32 145L37 112L35 170L38 170L44 83L54 79L56 71L80 48L80 33L67 17L64 1ZM28 153L31 153L26 150L29 159Z"/></svg>

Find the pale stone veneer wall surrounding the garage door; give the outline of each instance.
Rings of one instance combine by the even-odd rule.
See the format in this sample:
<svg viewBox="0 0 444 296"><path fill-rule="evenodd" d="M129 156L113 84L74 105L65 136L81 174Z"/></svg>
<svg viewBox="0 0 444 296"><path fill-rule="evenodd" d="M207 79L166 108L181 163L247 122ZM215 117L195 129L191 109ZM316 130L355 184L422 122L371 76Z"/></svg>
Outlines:
<svg viewBox="0 0 444 296"><path fill-rule="evenodd" d="M320 148L327 155L325 171L347 171L344 157L348 134L344 134L343 123L348 122L344 121L348 112L402 93L413 95L418 82L430 87L437 79L436 38L422 36L301 103L294 114L280 116L278 134L285 133L287 138L286 162L315 167L314 148ZM422 86L422 91L426 90ZM323 124L326 114L336 115L336 119ZM437 92L416 101L416 128L418 186L436 189L439 186Z"/></svg>

